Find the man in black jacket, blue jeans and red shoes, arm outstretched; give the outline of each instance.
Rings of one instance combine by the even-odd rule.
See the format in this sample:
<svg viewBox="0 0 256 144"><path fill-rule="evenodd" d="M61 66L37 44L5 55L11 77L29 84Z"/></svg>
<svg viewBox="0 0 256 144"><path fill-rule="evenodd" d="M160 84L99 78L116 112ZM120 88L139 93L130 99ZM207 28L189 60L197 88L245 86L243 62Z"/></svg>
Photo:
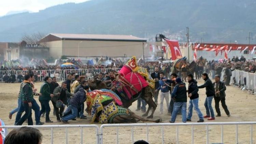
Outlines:
<svg viewBox="0 0 256 144"><path fill-rule="evenodd" d="M206 89L206 98L204 101L204 106L206 109L206 116L204 118L208 118L207 120L214 120L214 111L212 108L212 99L215 95L214 86L210 78L208 77L207 73L202 74L202 78L204 80L204 84L198 86L198 88L205 88Z"/></svg>

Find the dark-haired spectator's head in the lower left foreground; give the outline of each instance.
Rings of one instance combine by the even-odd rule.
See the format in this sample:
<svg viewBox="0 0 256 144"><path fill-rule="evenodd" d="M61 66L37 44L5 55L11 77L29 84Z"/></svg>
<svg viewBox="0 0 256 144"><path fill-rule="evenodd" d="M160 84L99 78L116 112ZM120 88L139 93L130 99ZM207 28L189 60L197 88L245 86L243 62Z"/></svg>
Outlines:
<svg viewBox="0 0 256 144"><path fill-rule="evenodd" d="M4 144L41 144L42 134L38 129L21 127L13 129L5 138Z"/></svg>

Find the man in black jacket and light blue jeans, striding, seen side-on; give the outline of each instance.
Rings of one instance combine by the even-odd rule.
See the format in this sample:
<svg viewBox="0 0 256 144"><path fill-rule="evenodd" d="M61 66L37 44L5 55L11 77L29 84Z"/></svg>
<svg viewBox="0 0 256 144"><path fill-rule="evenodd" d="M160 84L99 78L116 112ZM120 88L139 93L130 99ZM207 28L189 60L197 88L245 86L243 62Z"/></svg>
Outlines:
<svg viewBox="0 0 256 144"><path fill-rule="evenodd" d="M202 123L203 120L203 114L201 113L199 107L198 107L198 101L199 101L199 95L198 95L198 87L197 87L197 81L194 80L193 75L189 74L187 75L187 81L188 81L188 97L189 105L188 105L188 115L187 115L187 121L191 121L193 107L194 110L197 112L197 115L199 117L199 120L197 123Z"/></svg>

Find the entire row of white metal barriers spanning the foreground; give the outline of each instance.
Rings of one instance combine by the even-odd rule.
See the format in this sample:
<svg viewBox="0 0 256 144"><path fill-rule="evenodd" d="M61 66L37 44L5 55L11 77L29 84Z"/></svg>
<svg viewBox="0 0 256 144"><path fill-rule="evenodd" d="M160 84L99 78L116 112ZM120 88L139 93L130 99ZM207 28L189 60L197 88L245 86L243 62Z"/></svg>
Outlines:
<svg viewBox="0 0 256 144"><path fill-rule="evenodd" d="M179 133L179 126L191 126L191 144L197 143L194 141L194 126L205 126L206 128L206 133L205 133L205 138L206 138L206 143L209 144L209 139L211 138L209 136L209 126L221 126L221 142L224 142L224 125L234 125L236 127L236 144L239 143L239 137L238 137L238 126L239 125L250 125L250 143L253 144L253 125L256 125L256 122L218 122L218 123L150 123L150 124L103 124L101 125L100 129L97 125L48 125L48 126L30 126L30 127L34 127L34 128L38 128L40 130L40 128L51 128L51 143L53 144L53 129L54 128L66 128L65 131L65 139L66 139L66 144L68 144L68 128L80 128L81 130L81 144L83 144L83 128L95 128L96 129L96 144L103 144L104 143L104 136L108 136L108 127L116 127L116 139L113 139L113 141L108 141L108 143L119 143L119 127L130 127L131 128L131 143L134 143L134 137L133 137L133 133L134 127L146 127L146 141L148 141L148 133L149 133L149 128L152 126L158 126L161 127L161 143L167 143L164 140L164 127L165 126L173 126L176 127L176 143L179 144L179 139L183 139L182 134ZM20 128L22 126L0 126L0 128L6 128L8 131L8 129L13 129L13 128ZM107 129L105 131L103 131L103 128ZM120 129L122 130L122 129ZM105 133L104 133L105 132ZM123 131L122 131L123 132ZM244 131L243 131L244 132ZM159 140L160 141L160 140ZM150 143L150 142L149 142Z"/></svg>

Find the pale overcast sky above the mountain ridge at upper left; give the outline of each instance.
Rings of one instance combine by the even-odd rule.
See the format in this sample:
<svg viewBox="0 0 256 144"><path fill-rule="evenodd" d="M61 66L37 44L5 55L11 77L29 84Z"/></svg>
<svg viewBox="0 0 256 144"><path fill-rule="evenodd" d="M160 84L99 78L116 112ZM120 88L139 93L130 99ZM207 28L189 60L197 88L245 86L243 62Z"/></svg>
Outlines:
<svg viewBox="0 0 256 144"><path fill-rule="evenodd" d="M80 3L88 0L1 0L0 16L5 15L9 11L29 10L38 12L53 5L63 4L67 2Z"/></svg>

